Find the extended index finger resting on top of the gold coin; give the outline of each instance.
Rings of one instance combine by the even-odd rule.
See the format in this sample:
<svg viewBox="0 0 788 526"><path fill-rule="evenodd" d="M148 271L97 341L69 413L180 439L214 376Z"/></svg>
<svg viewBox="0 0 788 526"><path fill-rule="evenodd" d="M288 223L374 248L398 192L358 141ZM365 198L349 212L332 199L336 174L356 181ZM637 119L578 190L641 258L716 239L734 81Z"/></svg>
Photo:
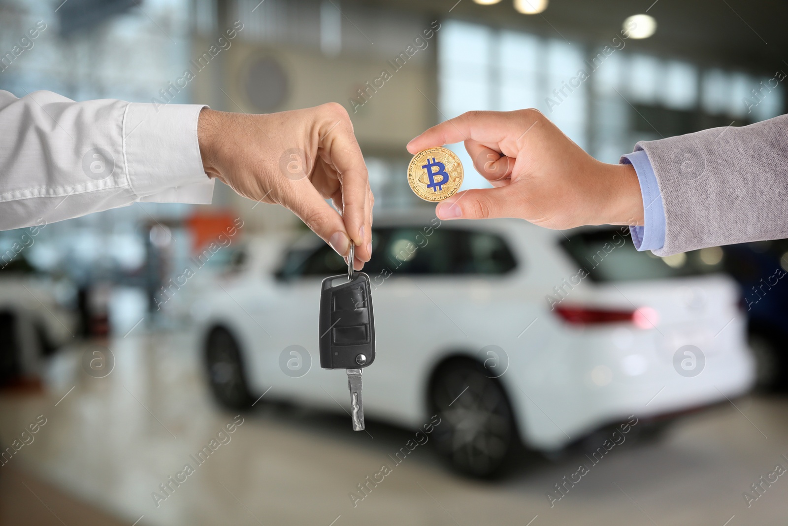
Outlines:
<svg viewBox="0 0 788 526"><path fill-rule="evenodd" d="M415 137L407 144L407 151L416 154L426 148L469 139L482 144L501 144L507 139L516 142L518 130L522 125L533 124L537 114L536 110L468 111Z"/></svg>

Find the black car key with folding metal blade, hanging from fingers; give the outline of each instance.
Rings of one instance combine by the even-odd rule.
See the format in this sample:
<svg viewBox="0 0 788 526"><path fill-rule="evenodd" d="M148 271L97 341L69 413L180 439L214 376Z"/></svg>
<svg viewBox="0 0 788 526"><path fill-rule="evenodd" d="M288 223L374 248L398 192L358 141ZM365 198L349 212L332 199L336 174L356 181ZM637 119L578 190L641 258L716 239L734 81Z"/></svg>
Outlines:
<svg viewBox="0 0 788 526"><path fill-rule="evenodd" d="M348 274L325 278L320 291L320 367L348 371L353 431L364 429L361 371L375 360L375 320L370 277L353 270L351 243Z"/></svg>

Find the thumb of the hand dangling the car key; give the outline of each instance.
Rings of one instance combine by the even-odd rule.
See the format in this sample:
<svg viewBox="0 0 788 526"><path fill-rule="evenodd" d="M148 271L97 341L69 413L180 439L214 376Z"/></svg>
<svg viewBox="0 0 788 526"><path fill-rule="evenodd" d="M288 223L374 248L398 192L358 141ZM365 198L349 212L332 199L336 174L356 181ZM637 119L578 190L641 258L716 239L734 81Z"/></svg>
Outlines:
<svg viewBox="0 0 788 526"><path fill-rule="evenodd" d="M314 233L322 237L323 241L331 245L340 256L347 256L350 250L350 238L345 230L342 216L334 210L312 186L308 179L304 181L304 188L299 188L295 196L284 203L293 211Z"/></svg>

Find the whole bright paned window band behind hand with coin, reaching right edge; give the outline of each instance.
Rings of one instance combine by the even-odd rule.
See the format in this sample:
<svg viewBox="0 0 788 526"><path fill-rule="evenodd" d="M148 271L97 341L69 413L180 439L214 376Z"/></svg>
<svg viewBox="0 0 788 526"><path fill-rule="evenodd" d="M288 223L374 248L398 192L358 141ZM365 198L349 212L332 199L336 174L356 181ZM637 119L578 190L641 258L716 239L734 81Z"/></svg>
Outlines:
<svg viewBox="0 0 788 526"><path fill-rule="evenodd" d="M612 36L589 46L557 34L545 38L446 21L438 47L439 118L534 107L597 159L618 162L638 140L747 125L784 110L782 83L774 74L704 69L632 53L629 41ZM489 186L470 170L463 145L452 149L469 166L463 188Z"/></svg>

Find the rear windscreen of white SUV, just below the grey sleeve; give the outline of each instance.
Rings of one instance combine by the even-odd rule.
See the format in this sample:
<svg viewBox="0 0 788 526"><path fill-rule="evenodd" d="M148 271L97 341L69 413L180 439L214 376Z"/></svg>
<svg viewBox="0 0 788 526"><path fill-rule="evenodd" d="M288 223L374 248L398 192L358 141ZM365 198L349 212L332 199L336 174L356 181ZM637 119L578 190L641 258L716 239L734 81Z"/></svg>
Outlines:
<svg viewBox="0 0 788 526"><path fill-rule="evenodd" d="M635 282L680 278L717 272L723 268L723 250L701 248L673 256L638 252L629 227L584 230L560 241L560 245L594 282Z"/></svg>

